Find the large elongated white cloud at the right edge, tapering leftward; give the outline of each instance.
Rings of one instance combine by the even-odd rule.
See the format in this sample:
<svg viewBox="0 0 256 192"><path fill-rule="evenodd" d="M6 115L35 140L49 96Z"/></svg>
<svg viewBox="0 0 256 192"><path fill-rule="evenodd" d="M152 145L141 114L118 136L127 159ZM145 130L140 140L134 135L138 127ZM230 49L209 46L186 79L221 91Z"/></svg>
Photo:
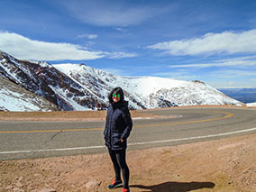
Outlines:
<svg viewBox="0 0 256 192"><path fill-rule="evenodd" d="M255 53L256 30L240 33L207 33L201 38L165 41L148 46L148 48L164 50L170 55Z"/></svg>

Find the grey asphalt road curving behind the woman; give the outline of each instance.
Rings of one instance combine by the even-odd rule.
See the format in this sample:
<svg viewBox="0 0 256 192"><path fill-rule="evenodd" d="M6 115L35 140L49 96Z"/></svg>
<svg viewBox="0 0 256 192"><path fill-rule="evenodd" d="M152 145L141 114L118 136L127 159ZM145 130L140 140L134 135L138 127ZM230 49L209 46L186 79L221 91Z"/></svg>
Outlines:
<svg viewBox="0 0 256 192"><path fill-rule="evenodd" d="M256 110L171 108L133 119L128 150L201 142L256 133ZM105 122L0 122L0 160L106 152Z"/></svg>

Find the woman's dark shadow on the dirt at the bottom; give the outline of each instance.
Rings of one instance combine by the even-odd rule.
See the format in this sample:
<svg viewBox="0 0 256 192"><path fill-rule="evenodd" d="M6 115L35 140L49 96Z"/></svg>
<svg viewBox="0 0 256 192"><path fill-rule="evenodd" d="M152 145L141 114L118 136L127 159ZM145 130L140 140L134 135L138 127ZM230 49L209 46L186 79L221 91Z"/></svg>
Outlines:
<svg viewBox="0 0 256 192"><path fill-rule="evenodd" d="M132 185L130 187L146 189L145 192L186 192L200 188L213 188L212 182L165 182L154 186Z"/></svg>

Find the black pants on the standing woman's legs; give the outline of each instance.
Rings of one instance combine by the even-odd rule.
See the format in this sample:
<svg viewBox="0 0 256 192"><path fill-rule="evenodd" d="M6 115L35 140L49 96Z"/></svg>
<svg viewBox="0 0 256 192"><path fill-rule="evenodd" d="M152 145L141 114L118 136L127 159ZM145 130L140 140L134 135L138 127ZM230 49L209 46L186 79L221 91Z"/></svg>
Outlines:
<svg viewBox="0 0 256 192"><path fill-rule="evenodd" d="M114 165L114 172L115 172L115 180L120 181L121 180L121 169L123 173L123 188L129 188L129 176L130 176L130 170L126 164L126 150L111 150L108 148L108 152L110 155L110 158Z"/></svg>

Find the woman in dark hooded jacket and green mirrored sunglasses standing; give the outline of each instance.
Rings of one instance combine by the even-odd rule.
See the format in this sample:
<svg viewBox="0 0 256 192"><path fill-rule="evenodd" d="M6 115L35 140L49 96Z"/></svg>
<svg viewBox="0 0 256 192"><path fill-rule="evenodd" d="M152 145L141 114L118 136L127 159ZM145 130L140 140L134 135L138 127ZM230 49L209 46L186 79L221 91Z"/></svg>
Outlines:
<svg viewBox="0 0 256 192"><path fill-rule="evenodd" d="M128 108L128 102L124 101L123 89L115 87L108 95L110 105L107 108L105 121L105 145L114 165L115 179L108 188L123 185L123 192L129 192L130 170L126 164L127 138L129 137L133 121ZM121 179L121 170L123 181Z"/></svg>

